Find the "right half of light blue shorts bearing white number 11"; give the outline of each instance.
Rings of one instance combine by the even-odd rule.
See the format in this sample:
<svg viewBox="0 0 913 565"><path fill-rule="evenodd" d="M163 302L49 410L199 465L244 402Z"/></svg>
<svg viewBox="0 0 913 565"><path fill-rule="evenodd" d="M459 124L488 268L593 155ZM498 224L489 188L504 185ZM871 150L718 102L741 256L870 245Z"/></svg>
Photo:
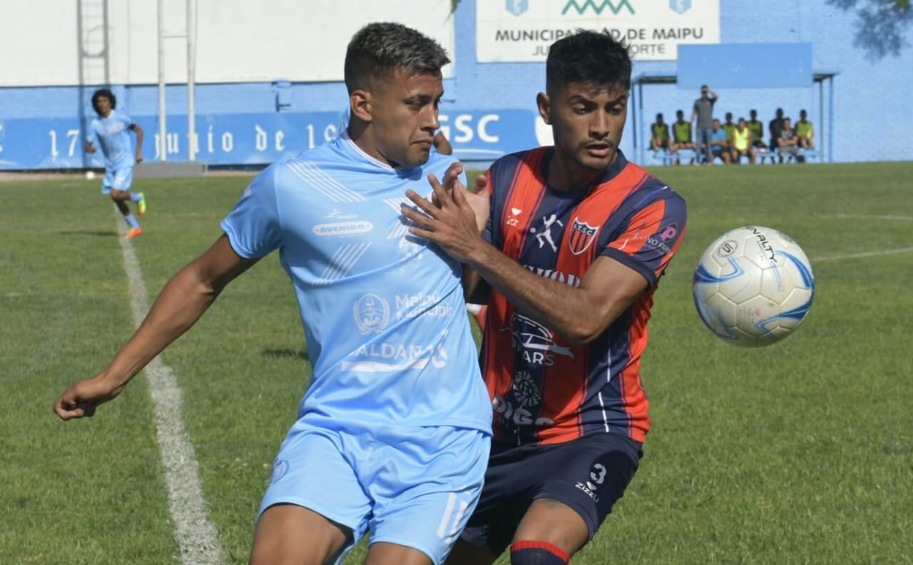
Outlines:
<svg viewBox="0 0 913 565"><path fill-rule="evenodd" d="M476 508L490 438L477 430L439 426L383 441L385 463L368 486L374 499L372 547L382 542L405 546L435 565L443 563Z"/></svg>

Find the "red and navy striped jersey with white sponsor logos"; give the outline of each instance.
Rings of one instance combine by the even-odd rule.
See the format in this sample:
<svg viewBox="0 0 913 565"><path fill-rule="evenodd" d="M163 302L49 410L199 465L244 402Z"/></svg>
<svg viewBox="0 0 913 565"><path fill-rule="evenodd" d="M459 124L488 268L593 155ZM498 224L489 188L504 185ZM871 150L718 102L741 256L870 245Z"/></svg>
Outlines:
<svg viewBox="0 0 913 565"><path fill-rule="evenodd" d="M585 190L552 189L552 148L498 159L485 173L491 218L483 234L523 267L578 286L607 256L648 289L603 334L572 346L492 289L480 354L498 442L555 444L596 433L643 442L650 428L640 379L653 293L685 232L685 200L619 151Z"/></svg>

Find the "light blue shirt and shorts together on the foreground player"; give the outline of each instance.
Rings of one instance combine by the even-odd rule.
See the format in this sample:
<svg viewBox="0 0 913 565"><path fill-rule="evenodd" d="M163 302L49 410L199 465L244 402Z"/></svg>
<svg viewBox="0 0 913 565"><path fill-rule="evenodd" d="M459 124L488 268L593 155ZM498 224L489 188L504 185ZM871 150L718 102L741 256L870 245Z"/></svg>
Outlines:
<svg viewBox="0 0 913 565"><path fill-rule="evenodd" d="M336 563L368 530L444 563L484 482L491 405L460 264L400 213L452 162L394 170L342 135L264 170L222 221L242 257L279 250L313 365L258 516L294 504L352 529Z"/></svg>

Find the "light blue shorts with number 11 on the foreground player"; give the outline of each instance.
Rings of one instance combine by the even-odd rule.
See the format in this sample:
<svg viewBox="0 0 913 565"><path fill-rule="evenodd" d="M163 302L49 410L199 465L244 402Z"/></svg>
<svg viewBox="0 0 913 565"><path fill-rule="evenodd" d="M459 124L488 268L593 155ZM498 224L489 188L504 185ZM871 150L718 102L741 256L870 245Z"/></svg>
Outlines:
<svg viewBox="0 0 913 565"><path fill-rule="evenodd" d="M490 437L474 429L379 426L331 430L299 420L273 464L259 516L274 504L310 508L352 529L446 560L482 490Z"/></svg>

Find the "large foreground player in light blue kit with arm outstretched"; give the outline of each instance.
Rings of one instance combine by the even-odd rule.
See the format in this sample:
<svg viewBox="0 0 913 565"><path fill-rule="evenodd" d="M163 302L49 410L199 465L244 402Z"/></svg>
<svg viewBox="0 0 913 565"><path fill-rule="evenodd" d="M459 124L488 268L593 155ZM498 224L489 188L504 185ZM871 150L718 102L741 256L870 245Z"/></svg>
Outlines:
<svg viewBox="0 0 913 565"><path fill-rule="evenodd" d="M278 250L313 375L273 466L251 563L339 563L370 530L366 563L439 565L476 507L491 406L461 265L411 235L401 208L407 190L430 194L430 178L453 188L462 174L431 151L447 62L399 24L356 33L345 133L259 174L222 237L168 282L111 364L55 406L65 420L91 416Z"/></svg>

